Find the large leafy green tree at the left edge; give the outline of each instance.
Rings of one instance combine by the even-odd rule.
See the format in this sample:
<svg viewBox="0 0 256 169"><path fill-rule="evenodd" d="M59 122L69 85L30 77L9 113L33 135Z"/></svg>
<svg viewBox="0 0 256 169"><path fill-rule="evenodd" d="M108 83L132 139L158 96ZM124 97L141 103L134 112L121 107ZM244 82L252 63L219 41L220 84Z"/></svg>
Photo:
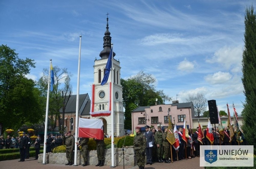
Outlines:
<svg viewBox="0 0 256 169"><path fill-rule="evenodd" d="M32 79L25 77L31 67L35 67L34 60L20 59L15 49L0 46L0 122L4 129L18 129L42 119L39 90Z"/></svg>

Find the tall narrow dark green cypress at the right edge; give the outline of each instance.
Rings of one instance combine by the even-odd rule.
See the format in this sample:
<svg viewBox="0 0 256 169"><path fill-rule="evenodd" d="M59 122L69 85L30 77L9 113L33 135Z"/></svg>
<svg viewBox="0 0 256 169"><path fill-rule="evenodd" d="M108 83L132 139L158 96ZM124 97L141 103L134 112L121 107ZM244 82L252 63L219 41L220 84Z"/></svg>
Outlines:
<svg viewBox="0 0 256 169"><path fill-rule="evenodd" d="M254 7L245 10L245 33L242 58L242 83L245 103L243 116L244 135L249 145L254 145L256 154L256 14Z"/></svg>

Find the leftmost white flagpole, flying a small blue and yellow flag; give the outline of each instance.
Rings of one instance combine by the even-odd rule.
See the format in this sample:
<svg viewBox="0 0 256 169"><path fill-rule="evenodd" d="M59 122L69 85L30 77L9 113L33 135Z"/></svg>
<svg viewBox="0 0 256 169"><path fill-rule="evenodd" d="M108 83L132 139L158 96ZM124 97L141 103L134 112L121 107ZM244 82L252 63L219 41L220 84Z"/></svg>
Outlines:
<svg viewBox="0 0 256 169"><path fill-rule="evenodd" d="M47 100L46 100L46 111L45 111L43 164L46 164L46 162L45 162L45 156L46 156L46 136L47 136L47 128L48 128L48 111L49 111L51 64L52 64L52 59L50 59L49 77L48 77L48 90L47 90Z"/></svg>

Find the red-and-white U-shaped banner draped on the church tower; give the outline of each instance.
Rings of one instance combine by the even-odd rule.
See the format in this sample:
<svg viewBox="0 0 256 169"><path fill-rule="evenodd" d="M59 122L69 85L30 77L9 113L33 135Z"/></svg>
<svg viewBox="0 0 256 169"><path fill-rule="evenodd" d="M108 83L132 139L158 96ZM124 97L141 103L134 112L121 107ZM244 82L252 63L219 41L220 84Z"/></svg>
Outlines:
<svg viewBox="0 0 256 169"><path fill-rule="evenodd" d="M92 85L92 100L91 100L91 107L90 107L90 114L92 117L97 117L97 116L110 116L111 114L111 82L108 83L108 108L104 108L104 110L98 110L98 111L95 111L94 108L95 108L95 85ZM103 109L103 107L102 107Z"/></svg>

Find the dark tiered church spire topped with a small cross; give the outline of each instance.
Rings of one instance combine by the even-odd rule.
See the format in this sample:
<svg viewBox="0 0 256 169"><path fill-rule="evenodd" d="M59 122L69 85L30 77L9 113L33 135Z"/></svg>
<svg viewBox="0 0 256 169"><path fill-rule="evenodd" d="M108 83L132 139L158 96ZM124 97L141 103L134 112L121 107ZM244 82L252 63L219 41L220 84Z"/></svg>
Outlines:
<svg viewBox="0 0 256 169"><path fill-rule="evenodd" d="M106 14L107 15L107 27L106 27L106 31L105 31L105 36L103 37L103 50L100 52L99 56L102 59L106 59L108 58L110 51L111 51L111 36L110 36L110 32L108 31L108 15L109 13ZM113 52L113 57L116 54Z"/></svg>

